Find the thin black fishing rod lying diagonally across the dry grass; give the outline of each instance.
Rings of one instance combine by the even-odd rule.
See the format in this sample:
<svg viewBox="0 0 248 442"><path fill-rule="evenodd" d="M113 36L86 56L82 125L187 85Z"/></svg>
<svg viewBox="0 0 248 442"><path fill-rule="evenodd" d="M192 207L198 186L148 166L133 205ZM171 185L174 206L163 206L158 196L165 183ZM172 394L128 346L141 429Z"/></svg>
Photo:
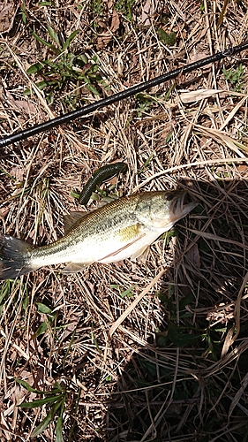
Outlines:
<svg viewBox="0 0 248 442"><path fill-rule="evenodd" d="M76 118L84 117L89 113L94 112L94 110L101 109L105 106L109 106L109 104L113 104L121 100L124 100L124 98L128 98L132 95L139 94L139 92L143 92L146 89L153 88L154 86L157 86L165 81L175 79L179 74L192 72L194 69L199 69L200 67L213 64L216 61L222 60L223 58L229 56L233 56L241 52L242 50L247 50L247 49L248 49L248 42L239 44L238 46L230 47L227 50L223 50L222 52L217 52L212 56L202 58L201 60L190 63L190 65L185 65L184 67L175 69L175 71L164 73L159 77L154 78L153 80L145 81L144 83L140 83L139 85L132 86L132 88L127 88L121 92L118 92L117 94L103 98L98 102L88 104L78 110L73 110L69 113L61 115L60 117L52 118L49 121L41 123L40 125L28 127L27 129L20 131L18 133L11 133L11 135L8 135L0 139L0 148L8 146L17 141L26 140L26 138L36 135L37 133L48 131L53 127L63 125L64 123L68 123L69 121L72 121Z"/></svg>

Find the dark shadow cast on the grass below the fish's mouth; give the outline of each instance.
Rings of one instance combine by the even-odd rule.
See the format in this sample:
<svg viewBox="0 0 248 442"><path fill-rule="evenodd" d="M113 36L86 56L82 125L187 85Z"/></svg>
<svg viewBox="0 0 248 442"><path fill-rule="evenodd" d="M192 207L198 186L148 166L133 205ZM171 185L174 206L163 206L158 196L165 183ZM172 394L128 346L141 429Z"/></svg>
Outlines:
<svg viewBox="0 0 248 442"><path fill-rule="evenodd" d="M177 227L162 321L116 383L109 442L248 437L248 182L187 185L201 210Z"/></svg>

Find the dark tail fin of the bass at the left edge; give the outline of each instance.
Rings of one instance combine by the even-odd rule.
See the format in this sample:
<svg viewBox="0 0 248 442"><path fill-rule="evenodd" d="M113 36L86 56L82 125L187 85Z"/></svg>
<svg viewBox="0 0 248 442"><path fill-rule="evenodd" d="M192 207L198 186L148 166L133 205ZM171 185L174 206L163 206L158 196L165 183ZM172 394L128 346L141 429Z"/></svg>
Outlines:
<svg viewBox="0 0 248 442"><path fill-rule="evenodd" d="M30 259L32 249L32 246L22 240L0 235L0 281L34 271Z"/></svg>

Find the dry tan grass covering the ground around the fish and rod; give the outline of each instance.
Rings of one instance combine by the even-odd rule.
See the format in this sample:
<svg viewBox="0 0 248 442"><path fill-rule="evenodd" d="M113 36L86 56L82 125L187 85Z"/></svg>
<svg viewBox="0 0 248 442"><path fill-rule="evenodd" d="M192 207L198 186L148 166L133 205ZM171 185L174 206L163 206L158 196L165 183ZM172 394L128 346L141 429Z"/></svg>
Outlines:
<svg viewBox="0 0 248 442"><path fill-rule="evenodd" d="M247 23L235 1L13 4L0 19L1 135L99 99L82 80L59 88L62 68L39 90L41 74L26 70L56 56L31 31L51 42L49 26L62 41L78 29L68 51L98 57L105 83L93 86L106 96L244 42ZM222 70L239 65L231 84ZM200 206L146 264L1 284L1 440L30 440L50 410L17 408L44 395L16 378L64 388L64 441L247 440L247 97L244 52L2 150L1 229L37 245L63 234L63 214L78 208L71 190L117 159L128 172L109 193L180 187ZM59 411L37 440L56 439Z"/></svg>

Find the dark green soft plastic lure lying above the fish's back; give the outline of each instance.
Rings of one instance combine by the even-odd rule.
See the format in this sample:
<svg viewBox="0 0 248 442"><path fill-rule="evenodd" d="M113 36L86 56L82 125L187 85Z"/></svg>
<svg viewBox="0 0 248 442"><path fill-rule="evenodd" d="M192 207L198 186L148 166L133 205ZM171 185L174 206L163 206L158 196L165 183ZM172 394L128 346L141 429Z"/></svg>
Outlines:
<svg viewBox="0 0 248 442"><path fill-rule="evenodd" d="M79 194L79 204L86 205L96 187L101 186L101 183L104 181L108 181L109 179L115 177L117 173L125 171L126 168L127 165L125 163L114 163L107 164L102 166L100 169L97 169L97 171L94 171L92 177L88 179L86 186Z"/></svg>

